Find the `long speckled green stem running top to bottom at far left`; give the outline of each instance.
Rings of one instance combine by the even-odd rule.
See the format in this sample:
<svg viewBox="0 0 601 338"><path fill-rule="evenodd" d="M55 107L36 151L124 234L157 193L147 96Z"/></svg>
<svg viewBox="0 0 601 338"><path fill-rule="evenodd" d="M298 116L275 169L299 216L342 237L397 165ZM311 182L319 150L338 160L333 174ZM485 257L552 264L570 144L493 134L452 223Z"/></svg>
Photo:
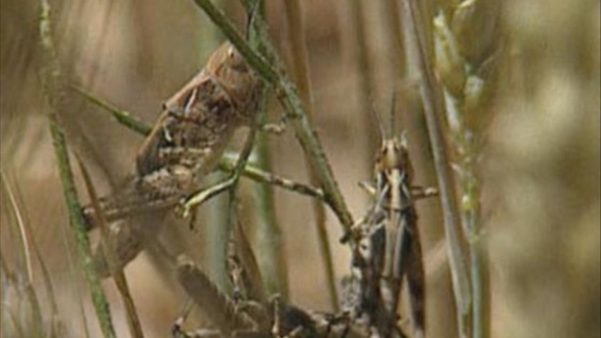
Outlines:
<svg viewBox="0 0 601 338"><path fill-rule="evenodd" d="M56 56L56 49L54 48L51 31L50 5L46 0L40 0L40 40L43 56L45 58L41 76L45 83L45 97L47 102L50 103L50 114L48 114L50 133L52 135L52 144L56 153L56 162L59 166L63 194L68 208L69 224L75 238L77 256L79 256L86 282L92 294L93 305L96 310L98 322L100 323L100 329L105 337L112 338L116 336L109 311L109 305L105 293L102 291L100 279L98 279L93 266L92 252L84 226L84 219L82 213L80 213L81 206L79 205L77 191L73 184L73 173L70 168L65 135L57 121L57 114L59 114L61 109L61 98L64 85L61 81L61 70Z"/></svg>

